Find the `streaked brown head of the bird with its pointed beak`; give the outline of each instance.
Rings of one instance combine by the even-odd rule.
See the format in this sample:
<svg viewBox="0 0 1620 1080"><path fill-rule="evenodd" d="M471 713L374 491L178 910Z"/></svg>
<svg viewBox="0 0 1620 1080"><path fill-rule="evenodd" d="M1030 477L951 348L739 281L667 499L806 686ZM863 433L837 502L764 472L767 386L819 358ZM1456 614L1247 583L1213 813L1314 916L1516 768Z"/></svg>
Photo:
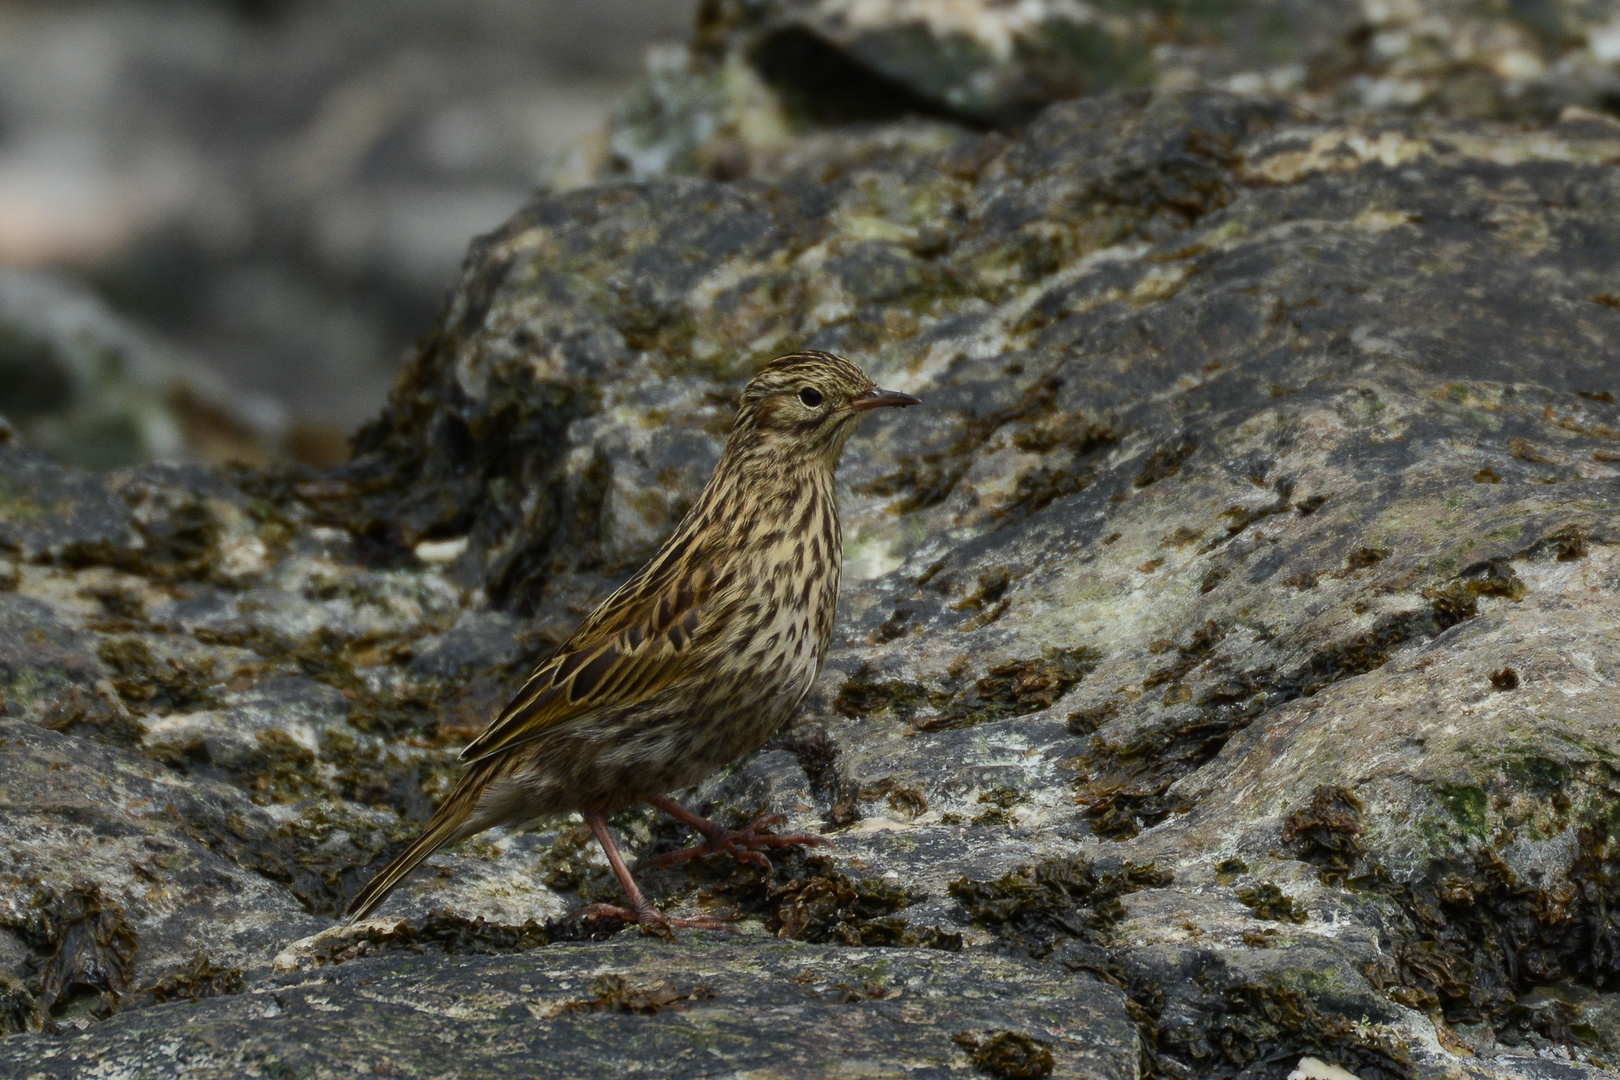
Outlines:
<svg viewBox="0 0 1620 1080"><path fill-rule="evenodd" d="M870 410L917 403L909 393L880 389L842 356L778 356L744 387L731 449L799 460L821 457L833 466Z"/></svg>

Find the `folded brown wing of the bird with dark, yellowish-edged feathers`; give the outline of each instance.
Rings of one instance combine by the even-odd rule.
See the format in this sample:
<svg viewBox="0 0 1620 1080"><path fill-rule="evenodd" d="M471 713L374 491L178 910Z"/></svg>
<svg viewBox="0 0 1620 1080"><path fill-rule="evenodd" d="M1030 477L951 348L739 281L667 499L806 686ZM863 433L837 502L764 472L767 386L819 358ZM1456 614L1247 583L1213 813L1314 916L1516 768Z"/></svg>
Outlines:
<svg viewBox="0 0 1620 1080"><path fill-rule="evenodd" d="M599 709L645 701L680 680L692 669L693 641L719 620L714 596L713 575L690 563L679 575L632 578L528 677L462 761L510 750Z"/></svg>

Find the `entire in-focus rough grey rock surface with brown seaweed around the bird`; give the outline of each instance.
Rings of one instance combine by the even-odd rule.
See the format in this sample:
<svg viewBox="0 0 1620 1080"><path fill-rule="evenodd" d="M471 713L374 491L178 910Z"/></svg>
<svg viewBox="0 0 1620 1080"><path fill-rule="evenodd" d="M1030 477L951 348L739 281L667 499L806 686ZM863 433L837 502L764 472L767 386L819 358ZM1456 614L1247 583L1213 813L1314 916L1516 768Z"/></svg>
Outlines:
<svg viewBox="0 0 1620 1080"><path fill-rule="evenodd" d="M0 1070L1605 1075L1617 162L1132 92L551 194L345 470L0 450ZM799 345L927 406L850 444L800 722L692 798L833 847L648 873L744 928L674 950L565 916L614 894L570 821L311 936Z"/></svg>

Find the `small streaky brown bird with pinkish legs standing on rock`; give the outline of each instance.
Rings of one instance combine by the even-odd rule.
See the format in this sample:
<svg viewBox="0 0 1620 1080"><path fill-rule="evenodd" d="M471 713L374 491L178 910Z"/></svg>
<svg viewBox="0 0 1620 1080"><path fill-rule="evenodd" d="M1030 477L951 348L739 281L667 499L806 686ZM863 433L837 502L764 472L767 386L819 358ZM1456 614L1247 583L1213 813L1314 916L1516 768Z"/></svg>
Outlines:
<svg viewBox="0 0 1620 1080"><path fill-rule="evenodd" d="M727 829L664 798L763 745L810 690L833 636L842 536L833 471L859 419L917 398L880 390L831 353L794 353L744 389L714 474L674 534L593 610L475 738L471 763L428 823L348 907L373 912L416 863L494 826L578 810L630 908L590 915L645 929L724 926L666 918L630 876L608 814L645 801L692 826L698 847L770 866L765 847L825 844Z"/></svg>

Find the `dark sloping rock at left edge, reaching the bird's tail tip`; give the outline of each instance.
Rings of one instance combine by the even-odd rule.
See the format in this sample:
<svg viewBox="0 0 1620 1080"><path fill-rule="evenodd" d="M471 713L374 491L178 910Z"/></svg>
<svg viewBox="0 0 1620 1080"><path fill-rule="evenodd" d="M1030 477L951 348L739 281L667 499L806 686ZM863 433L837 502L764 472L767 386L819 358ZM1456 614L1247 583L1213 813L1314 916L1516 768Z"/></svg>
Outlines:
<svg viewBox="0 0 1620 1080"><path fill-rule="evenodd" d="M123 963L99 962L112 968L96 973L104 981L84 981L109 994L109 1006L139 1001L143 989L198 954L262 973L288 936L319 926L285 879L266 876L269 866L241 866L220 853L233 840L275 832L241 792L201 777L180 784L156 761L19 719L0 719L0 923L11 928L8 939L32 950L13 972L49 976L73 923L91 918L75 897L94 895L131 941ZM53 925L58 910L66 915ZM102 939L96 947L112 946Z"/></svg>

